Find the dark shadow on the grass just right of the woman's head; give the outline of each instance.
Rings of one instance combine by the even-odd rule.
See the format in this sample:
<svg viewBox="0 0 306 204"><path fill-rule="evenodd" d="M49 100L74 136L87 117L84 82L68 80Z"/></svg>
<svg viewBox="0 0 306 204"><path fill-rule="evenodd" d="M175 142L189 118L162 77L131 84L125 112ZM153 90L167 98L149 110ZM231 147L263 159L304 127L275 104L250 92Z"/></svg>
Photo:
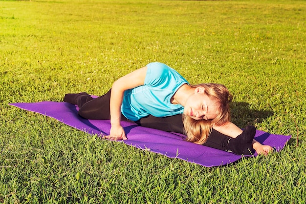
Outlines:
<svg viewBox="0 0 306 204"><path fill-rule="evenodd" d="M230 107L232 122L241 128L261 123L274 114L273 111L252 110L247 102L231 102Z"/></svg>

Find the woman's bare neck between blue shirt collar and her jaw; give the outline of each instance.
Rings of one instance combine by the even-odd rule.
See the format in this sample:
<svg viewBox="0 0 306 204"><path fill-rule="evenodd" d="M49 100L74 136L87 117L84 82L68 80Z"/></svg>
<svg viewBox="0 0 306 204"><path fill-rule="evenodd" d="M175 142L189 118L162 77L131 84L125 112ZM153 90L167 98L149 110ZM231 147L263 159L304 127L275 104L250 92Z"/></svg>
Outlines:
<svg viewBox="0 0 306 204"><path fill-rule="evenodd" d="M195 93L195 88L191 87L187 83L184 83L181 87L177 89L173 97L171 98L172 104L180 104L185 106L189 96Z"/></svg>

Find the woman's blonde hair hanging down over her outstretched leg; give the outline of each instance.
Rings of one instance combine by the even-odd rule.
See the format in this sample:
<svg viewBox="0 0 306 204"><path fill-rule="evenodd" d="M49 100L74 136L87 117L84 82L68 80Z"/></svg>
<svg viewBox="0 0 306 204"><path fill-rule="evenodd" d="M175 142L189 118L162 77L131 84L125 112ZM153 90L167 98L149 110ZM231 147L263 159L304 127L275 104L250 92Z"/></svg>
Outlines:
<svg viewBox="0 0 306 204"><path fill-rule="evenodd" d="M226 122L230 122L231 119L229 102L233 100L233 96L230 94L227 87L223 84L202 83L190 86L204 87L207 96L210 99L217 101L219 105L217 117L213 120L195 120L190 116L183 115L184 132L187 135L186 141L203 144L206 142L213 124L219 126Z"/></svg>

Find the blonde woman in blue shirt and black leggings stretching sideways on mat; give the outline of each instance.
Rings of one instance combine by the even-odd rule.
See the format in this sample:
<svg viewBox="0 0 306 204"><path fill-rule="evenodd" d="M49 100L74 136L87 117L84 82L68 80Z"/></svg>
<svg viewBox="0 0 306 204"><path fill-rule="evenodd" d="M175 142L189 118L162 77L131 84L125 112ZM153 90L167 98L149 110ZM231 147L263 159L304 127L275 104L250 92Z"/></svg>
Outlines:
<svg viewBox="0 0 306 204"><path fill-rule="evenodd" d="M79 115L86 119L110 120L110 134L105 136L110 140L127 140L120 121L133 121L164 131L184 132L189 142L235 154L250 155L252 148L259 154L270 152L272 147L253 140L254 126L242 131L230 122L231 100L224 85L191 85L174 69L159 62L118 79L107 94L98 98L84 92L66 94L64 98L65 102L77 104Z"/></svg>

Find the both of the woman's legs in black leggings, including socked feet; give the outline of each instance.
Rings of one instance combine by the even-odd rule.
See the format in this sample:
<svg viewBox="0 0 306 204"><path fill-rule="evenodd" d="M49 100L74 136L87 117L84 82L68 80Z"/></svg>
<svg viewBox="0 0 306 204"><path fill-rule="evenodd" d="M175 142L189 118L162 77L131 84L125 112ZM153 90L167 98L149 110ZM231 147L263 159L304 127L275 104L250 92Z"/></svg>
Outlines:
<svg viewBox="0 0 306 204"><path fill-rule="evenodd" d="M80 94L66 94L64 101L77 104L80 107L79 115L83 118L92 120L109 120L110 93L111 90L109 90L107 94L96 99L90 97L84 92ZM128 121L122 114L121 120ZM150 115L146 118L140 119L136 123L144 127L150 127L167 132L184 133L184 125L181 114L164 118L156 118ZM253 131L253 128L246 128L239 136L237 136L237 138L228 137L213 129L206 143L203 145L225 151L231 151L235 154L250 155L252 142L250 145L249 140L251 138L252 141L254 135L255 130Z"/></svg>

